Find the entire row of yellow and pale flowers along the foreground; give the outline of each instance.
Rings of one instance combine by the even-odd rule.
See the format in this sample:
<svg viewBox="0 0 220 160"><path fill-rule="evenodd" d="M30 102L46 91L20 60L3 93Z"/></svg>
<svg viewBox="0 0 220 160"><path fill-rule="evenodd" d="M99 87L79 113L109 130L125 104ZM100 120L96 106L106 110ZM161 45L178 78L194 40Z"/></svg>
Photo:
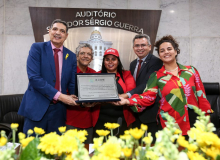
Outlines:
<svg viewBox="0 0 220 160"><path fill-rule="evenodd" d="M140 129L127 130L117 138L113 136L113 129L119 127L119 124L106 123L108 130L96 130L100 137L94 138L94 154L89 157L83 144L86 131L66 131L66 127L60 127L62 135L55 132L43 135L44 130L35 127L34 131L28 131L27 137L19 133L19 155L15 154L14 149L6 149L0 151L0 160L220 160L220 139L213 133L215 127L210 123L210 117L205 116L197 107L193 109L199 116L195 127L188 131L188 140L182 136L174 118L164 113L167 125L156 133L157 139L153 146L151 133L144 135L148 128L146 125L142 124ZM11 125L13 142L17 127L17 124ZM36 134L35 137L31 136L33 133ZM2 131L0 146L6 143L7 137Z"/></svg>

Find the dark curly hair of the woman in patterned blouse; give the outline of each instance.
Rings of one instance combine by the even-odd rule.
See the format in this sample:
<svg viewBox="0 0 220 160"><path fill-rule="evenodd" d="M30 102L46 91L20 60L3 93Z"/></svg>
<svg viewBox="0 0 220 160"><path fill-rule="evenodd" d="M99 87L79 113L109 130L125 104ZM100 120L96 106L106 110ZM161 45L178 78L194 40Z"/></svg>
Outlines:
<svg viewBox="0 0 220 160"><path fill-rule="evenodd" d="M167 35L167 36L163 36L161 39L159 39L156 43L155 43L155 47L156 47L156 51L159 54L159 50L160 50L160 45L164 42L169 42L171 43L171 45L173 46L174 50L177 52L177 55L180 54L180 49L179 49L179 44L178 42L173 38L173 36L171 35ZM176 57L177 57L176 55Z"/></svg>

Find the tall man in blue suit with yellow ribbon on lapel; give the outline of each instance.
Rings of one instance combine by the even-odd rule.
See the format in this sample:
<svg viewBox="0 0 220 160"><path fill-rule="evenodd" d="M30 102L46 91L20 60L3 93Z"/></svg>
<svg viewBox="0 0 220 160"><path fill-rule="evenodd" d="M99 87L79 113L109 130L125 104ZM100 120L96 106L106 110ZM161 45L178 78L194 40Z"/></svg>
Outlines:
<svg viewBox="0 0 220 160"><path fill-rule="evenodd" d="M68 36L66 22L55 20L50 41L34 43L27 59L29 84L18 114L25 117L24 133L40 127L46 133L65 126L66 107L75 103L76 56L63 46ZM66 95L66 90L71 95Z"/></svg>

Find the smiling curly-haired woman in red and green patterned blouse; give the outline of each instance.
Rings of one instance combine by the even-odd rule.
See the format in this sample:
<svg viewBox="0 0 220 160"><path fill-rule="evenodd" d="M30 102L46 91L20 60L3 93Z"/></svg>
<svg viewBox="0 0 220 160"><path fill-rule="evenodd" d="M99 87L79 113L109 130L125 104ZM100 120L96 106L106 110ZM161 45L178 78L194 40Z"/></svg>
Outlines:
<svg viewBox="0 0 220 160"><path fill-rule="evenodd" d="M156 42L155 47L163 61L163 67L151 74L143 94L135 94L129 99L121 98L121 101L115 104L127 104L134 112L142 112L147 106L152 105L159 95L161 99L158 115L161 126L166 126L163 113L168 113L176 120L182 134L187 135L197 116L192 109L193 106L202 109L206 115L212 113L203 83L195 67L177 63L180 49L171 35L162 37Z"/></svg>

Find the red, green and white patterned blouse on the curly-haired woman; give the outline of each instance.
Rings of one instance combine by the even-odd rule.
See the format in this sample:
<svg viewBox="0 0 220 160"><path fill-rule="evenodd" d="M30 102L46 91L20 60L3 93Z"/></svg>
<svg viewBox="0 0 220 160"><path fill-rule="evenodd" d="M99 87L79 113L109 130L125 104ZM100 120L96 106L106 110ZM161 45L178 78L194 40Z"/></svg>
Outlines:
<svg viewBox="0 0 220 160"><path fill-rule="evenodd" d="M152 73L144 93L129 98L131 109L134 112L143 111L154 103L157 95L161 98L158 115L162 127L166 126L163 113L168 113L175 119L183 135L187 135L190 130L189 110L192 110L192 106L207 114L213 112L206 99L199 72L193 66L178 64L177 76L167 72L164 66Z"/></svg>

